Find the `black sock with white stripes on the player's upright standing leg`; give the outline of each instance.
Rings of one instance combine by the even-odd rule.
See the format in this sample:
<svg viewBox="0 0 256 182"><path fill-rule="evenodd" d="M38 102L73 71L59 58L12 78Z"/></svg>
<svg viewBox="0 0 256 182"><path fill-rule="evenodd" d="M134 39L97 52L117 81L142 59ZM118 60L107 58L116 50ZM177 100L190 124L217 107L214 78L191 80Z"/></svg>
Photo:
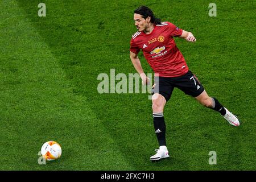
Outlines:
<svg viewBox="0 0 256 182"><path fill-rule="evenodd" d="M153 121L159 146L166 146L166 123L163 113L153 113Z"/></svg>

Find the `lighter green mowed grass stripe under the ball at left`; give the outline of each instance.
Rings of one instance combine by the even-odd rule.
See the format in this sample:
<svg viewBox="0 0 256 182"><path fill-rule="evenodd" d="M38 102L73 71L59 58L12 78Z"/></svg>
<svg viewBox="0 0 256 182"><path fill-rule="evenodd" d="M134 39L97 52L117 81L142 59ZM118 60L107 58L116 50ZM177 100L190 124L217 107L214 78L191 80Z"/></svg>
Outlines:
<svg viewBox="0 0 256 182"><path fill-rule="evenodd" d="M0 169L133 169L16 1L2 1L0 16ZM40 166L47 140L63 156Z"/></svg>

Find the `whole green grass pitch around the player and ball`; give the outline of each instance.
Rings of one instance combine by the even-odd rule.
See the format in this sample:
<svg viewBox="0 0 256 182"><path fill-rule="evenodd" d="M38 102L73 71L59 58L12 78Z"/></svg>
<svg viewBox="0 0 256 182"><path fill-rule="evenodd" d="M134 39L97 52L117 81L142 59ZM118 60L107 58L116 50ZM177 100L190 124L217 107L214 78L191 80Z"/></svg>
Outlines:
<svg viewBox="0 0 256 182"><path fill-rule="evenodd" d="M255 170L255 1L216 1L216 17L211 2L0 1L0 170ZM135 73L129 42L140 5L196 36L176 38L177 47L241 121L233 127L175 89L164 110L170 158L159 163L149 160L158 142L148 94L97 92L98 74ZM63 154L39 165L47 140Z"/></svg>

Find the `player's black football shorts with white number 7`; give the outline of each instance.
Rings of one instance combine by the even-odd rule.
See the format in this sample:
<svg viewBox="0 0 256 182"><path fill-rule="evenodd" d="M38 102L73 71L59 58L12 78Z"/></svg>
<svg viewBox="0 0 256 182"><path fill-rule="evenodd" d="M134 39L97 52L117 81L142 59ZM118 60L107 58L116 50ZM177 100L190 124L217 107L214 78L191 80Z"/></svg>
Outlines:
<svg viewBox="0 0 256 182"><path fill-rule="evenodd" d="M197 97L204 92L203 85L191 71L179 77L155 77L154 84L152 94L159 93L166 98L166 101L170 100L175 87L192 97Z"/></svg>

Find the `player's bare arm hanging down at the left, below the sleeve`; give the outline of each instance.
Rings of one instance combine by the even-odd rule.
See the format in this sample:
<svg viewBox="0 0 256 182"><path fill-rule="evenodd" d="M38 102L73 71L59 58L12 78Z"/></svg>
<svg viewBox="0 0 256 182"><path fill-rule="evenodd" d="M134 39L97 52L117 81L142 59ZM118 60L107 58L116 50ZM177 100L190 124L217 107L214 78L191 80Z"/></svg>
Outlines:
<svg viewBox="0 0 256 182"><path fill-rule="evenodd" d="M142 79L142 84L149 84L150 83L150 78L148 78L146 76L146 74L144 73L142 66L141 66L141 61L139 60L138 54L137 53L133 53L130 51L130 59L131 62L134 65L134 68L136 69L136 71L139 73L139 76L141 76Z"/></svg>

